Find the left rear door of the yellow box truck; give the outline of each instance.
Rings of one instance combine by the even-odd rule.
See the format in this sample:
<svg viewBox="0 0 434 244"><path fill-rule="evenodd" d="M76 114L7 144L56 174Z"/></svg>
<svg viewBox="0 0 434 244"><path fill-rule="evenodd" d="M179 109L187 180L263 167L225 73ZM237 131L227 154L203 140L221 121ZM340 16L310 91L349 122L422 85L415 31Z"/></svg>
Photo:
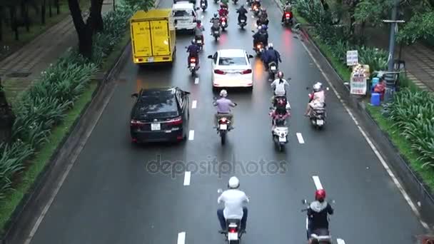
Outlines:
<svg viewBox="0 0 434 244"><path fill-rule="evenodd" d="M151 31L149 21L138 21L131 24L133 31L134 56L152 56Z"/></svg>

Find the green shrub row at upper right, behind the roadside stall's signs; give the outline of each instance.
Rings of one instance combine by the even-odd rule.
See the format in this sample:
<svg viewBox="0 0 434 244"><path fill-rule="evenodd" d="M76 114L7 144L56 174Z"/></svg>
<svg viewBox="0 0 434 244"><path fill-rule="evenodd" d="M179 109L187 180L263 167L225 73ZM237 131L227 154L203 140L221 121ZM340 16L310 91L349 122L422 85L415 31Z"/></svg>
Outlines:
<svg viewBox="0 0 434 244"><path fill-rule="evenodd" d="M351 44L348 26L333 23L334 14L326 13L320 1L296 0L298 13L315 28L314 34L330 48L333 56L346 65L346 52L358 50L360 63L370 66L370 71L387 68L388 52L368 46ZM371 72L372 73L372 72Z"/></svg>

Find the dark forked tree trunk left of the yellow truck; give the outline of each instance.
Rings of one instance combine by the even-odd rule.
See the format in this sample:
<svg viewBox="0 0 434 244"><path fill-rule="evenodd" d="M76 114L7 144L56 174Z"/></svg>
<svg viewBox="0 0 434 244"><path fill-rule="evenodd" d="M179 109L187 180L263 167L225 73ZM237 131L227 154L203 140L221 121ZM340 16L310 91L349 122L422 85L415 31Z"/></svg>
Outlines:
<svg viewBox="0 0 434 244"><path fill-rule="evenodd" d="M79 36L79 52L88 59L92 56L92 21L91 16L84 23L81 16L81 9L78 0L68 0L69 11L71 11L72 21L76 27L77 36Z"/></svg>

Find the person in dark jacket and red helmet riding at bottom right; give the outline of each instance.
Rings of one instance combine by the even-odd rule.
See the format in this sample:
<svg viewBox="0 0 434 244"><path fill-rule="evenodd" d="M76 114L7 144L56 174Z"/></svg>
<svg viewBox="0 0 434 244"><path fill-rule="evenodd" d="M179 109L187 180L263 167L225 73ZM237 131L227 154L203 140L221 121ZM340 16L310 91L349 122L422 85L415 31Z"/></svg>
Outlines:
<svg viewBox="0 0 434 244"><path fill-rule="evenodd" d="M332 215L334 210L330 203L325 201L325 190L317 190L315 193L315 201L309 205L308 208L308 240L311 238L311 234L316 230L325 229L328 230L328 214Z"/></svg>

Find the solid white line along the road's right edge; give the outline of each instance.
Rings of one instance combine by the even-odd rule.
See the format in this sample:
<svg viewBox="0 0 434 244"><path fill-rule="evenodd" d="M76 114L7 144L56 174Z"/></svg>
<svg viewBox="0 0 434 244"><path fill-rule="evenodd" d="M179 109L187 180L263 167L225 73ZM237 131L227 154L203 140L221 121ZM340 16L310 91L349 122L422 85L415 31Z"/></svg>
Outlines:
<svg viewBox="0 0 434 244"><path fill-rule="evenodd" d="M366 135L365 131L363 131L363 129L359 126L357 119L355 119L355 117L353 116L353 113L351 113L350 109L348 108L348 106L346 105L345 101L343 101L342 98L340 98L340 95L338 93L338 91L336 91L335 87L333 86L333 84L330 82L330 78L328 78L328 76L325 74L325 72L323 71L323 68L321 68L321 66L319 65L318 61L316 61L316 59L313 57L311 51L309 51L308 47L306 46L306 44L304 44L303 42L301 43L303 45L303 48L308 52L309 56L311 56L311 59L313 60L313 62L316 64L316 66L318 67L318 69L321 71L321 73L323 74L325 80L327 81L327 83L330 85L330 88L333 90L333 92L335 93L335 95L338 97L340 103L342 103L343 108L345 108L345 111L347 111L347 113L350 115L350 117L353 119L355 126L357 126L358 130L360 131L360 133L362 133L363 137L365 138L365 140L368 142L370 148L372 149L372 151L375 153L375 156L377 156L378 160L380 161L381 165L383 166L383 168L385 168L385 171L387 171L388 175L390 176L390 178L392 178L393 183L395 183L395 185L398 187L398 190L400 190L400 193L403 195L403 197L405 198L405 200L407 201L408 205L410 205L411 210L413 210L413 213L415 213L416 216L418 216L419 218L419 222L421 225L423 225L423 227L425 229L429 230L429 226L427 223L425 223L421 218L420 218L420 213L418 208L415 207L415 205L413 204L413 201L410 199L410 197L408 196L408 194L405 192L403 186L399 183L398 178L395 177L395 174L390 170L388 164L385 162L383 156L380 155L380 152L378 152L377 148L375 148L374 144L372 143L372 141L370 141L370 138ZM329 64L330 65L330 64Z"/></svg>

